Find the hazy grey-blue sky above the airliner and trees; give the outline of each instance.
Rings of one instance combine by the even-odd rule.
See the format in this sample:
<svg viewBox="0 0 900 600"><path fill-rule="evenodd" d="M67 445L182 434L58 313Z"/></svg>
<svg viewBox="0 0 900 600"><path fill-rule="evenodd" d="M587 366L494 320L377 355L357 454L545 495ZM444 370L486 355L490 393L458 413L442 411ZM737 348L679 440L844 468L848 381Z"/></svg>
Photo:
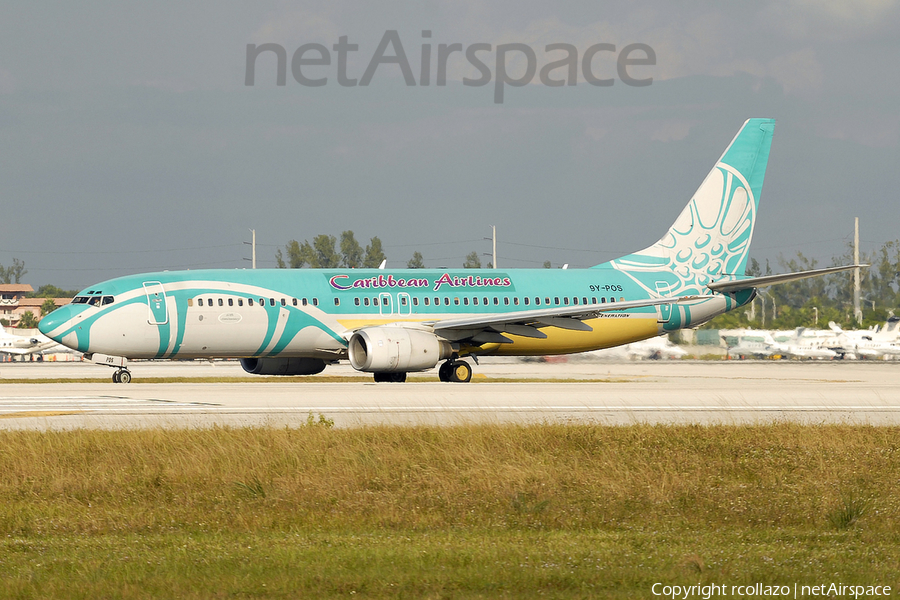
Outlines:
<svg viewBox="0 0 900 600"><path fill-rule="evenodd" d="M415 251L458 267L491 251L495 225L500 267L589 267L659 239L743 121L774 117L751 256L829 266L854 217L863 252L900 238L898 4L5 3L0 265L16 258L24 283L64 289L249 268L254 229L260 267L292 239L344 230L364 246L378 236L389 267ZM357 48L339 65L345 36ZM393 41L378 54L390 36L411 82ZM274 52L246 85L249 44L285 49L284 85ZM296 60L307 44L319 46ZM437 85L440 44L490 45L475 54L489 82L464 85L481 73L456 52ZM548 45L574 47L576 85L536 74L498 92L497 47L511 44L536 73L565 56ZM591 62L612 85L585 80L596 44L615 46ZM616 68L631 44L655 55L626 71L649 85ZM314 64L322 47L329 63ZM503 58L525 79L525 51Z"/></svg>

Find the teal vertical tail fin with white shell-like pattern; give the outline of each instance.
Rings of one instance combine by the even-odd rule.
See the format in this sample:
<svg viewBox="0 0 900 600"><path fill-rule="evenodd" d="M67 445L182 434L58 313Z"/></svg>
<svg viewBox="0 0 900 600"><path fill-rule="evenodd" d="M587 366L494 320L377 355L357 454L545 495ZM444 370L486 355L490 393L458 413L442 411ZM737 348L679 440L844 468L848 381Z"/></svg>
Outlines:
<svg viewBox="0 0 900 600"><path fill-rule="evenodd" d="M666 235L610 266L636 280L670 269L669 293L702 293L722 275L743 275L774 131L774 119L748 119Z"/></svg>

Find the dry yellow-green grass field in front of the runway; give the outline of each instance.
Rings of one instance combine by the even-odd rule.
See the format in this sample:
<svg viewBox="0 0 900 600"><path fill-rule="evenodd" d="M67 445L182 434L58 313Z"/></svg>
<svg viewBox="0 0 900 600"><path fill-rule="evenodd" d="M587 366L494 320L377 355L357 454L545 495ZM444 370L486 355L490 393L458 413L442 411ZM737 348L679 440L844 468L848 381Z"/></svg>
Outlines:
<svg viewBox="0 0 900 600"><path fill-rule="evenodd" d="M898 447L792 424L0 432L0 598L896 593Z"/></svg>

